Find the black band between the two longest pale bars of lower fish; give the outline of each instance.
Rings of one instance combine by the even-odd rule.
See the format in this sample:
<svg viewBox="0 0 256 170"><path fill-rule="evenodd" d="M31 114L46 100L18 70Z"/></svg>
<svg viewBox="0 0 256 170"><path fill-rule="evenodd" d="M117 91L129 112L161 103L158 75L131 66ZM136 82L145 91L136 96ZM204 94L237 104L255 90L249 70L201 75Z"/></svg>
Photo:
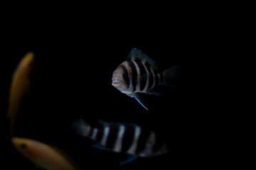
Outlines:
<svg viewBox="0 0 256 170"><path fill-rule="evenodd" d="M132 141L134 140L134 132L135 127L134 125L125 125L124 135L122 139L122 152L126 152L129 147L132 145Z"/></svg>

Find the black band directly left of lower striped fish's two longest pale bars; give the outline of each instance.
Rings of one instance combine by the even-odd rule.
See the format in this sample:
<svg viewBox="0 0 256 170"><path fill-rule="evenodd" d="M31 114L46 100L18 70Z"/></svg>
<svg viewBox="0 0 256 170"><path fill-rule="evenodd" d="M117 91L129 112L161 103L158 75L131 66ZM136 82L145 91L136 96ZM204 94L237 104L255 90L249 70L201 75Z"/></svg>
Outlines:
<svg viewBox="0 0 256 170"><path fill-rule="evenodd" d="M107 142L106 142L107 148L114 149L114 144L117 140L118 132L119 132L119 125L117 124L110 125L110 132L109 132L109 135L107 136Z"/></svg>

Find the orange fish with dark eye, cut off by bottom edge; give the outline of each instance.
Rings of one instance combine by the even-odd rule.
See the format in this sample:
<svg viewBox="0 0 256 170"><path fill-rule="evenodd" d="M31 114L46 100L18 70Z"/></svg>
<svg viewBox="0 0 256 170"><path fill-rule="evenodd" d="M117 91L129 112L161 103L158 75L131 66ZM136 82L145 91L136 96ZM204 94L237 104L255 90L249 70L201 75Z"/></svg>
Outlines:
<svg viewBox="0 0 256 170"><path fill-rule="evenodd" d="M24 157L31 160L40 169L75 170L80 169L73 160L59 149L42 142L25 138L13 137L14 147Z"/></svg>

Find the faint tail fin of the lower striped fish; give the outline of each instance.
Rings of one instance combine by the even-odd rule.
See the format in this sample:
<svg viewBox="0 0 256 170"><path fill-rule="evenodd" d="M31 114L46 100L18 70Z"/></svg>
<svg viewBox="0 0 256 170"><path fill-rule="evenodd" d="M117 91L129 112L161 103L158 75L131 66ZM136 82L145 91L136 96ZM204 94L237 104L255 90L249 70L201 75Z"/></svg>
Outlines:
<svg viewBox="0 0 256 170"><path fill-rule="evenodd" d="M87 137L89 135L91 126L85 122L82 118L78 118L71 125L71 131L77 135Z"/></svg>

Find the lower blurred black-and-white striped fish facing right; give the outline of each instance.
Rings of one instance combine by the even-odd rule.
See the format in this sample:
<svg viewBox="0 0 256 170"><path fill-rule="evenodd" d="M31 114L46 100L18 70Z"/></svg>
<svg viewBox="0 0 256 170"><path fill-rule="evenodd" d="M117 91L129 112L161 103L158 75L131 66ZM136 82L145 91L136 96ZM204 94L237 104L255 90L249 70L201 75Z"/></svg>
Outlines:
<svg viewBox="0 0 256 170"><path fill-rule="evenodd" d="M153 157L168 152L163 139L151 130L133 123L106 123L102 128L94 128L81 118L73 123L74 132L90 138L99 149L127 153L129 157L120 165L132 162L137 157Z"/></svg>

